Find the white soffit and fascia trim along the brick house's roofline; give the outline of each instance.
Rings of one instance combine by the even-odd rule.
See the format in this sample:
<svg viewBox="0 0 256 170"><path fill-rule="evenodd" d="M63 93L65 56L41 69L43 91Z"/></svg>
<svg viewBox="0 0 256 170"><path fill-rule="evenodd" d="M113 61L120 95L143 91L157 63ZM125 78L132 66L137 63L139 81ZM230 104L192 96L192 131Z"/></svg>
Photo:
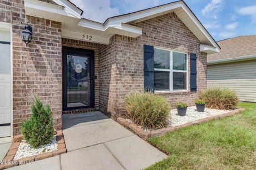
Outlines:
<svg viewBox="0 0 256 170"><path fill-rule="evenodd" d="M220 49L219 45L183 1L112 17L107 19L104 24L81 18L81 9L75 7L67 0L53 1L59 5L37 0L25 0L26 14L62 22L62 31L64 32L62 35L66 38L73 39L73 37L76 37L76 39L85 40L82 38L84 37L83 35L88 35L94 36L95 43L102 44L106 44L107 41L105 38L110 38L114 34L136 38L142 34L142 28L129 24L175 12L186 27L200 40L201 45L208 45L208 47L204 48L202 46L205 53L217 53ZM71 33L74 33L74 36ZM97 40L103 40L103 42L97 42ZM85 41L91 42L91 40ZM208 49L205 50L206 48Z"/></svg>

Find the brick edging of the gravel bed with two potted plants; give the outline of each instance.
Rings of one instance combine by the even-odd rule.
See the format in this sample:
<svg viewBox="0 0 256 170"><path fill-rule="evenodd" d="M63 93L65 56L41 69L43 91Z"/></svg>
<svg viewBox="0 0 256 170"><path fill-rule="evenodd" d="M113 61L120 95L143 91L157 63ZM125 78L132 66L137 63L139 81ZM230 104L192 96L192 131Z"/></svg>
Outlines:
<svg viewBox="0 0 256 170"><path fill-rule="evenodd" d="M116 121L118 123L120 123L122 126L125 126L125 127L129 128L132 132L134 132L136 135L140 136L142 139L147 140L149 137L159 137L159 136L165 135L165 133L167 133L167 132L171 132L171 131L177 130L179 128L198 125L200 123L208 122L208 121L214 120L214 119L222 119L223 117L235 115L238 112L244 111L244 110L245 110L244 108L238 108L238 109L235 109L235 110L233 110L231 112L228 112L226 114L210 116L210 117L206 117L204 119L199 119L199 120L195 120L195 121L192 121L192 122L188 122L188 123L185 123L183 125L174 126L174 127L160 128L158 130L154 130L154 131L150 131L150 132L149 131L144 131L139 126L135 125L134 123L131 123L131 122L127 121L126 119L124 119L122 117L118 117L116 119Z"/></svg>

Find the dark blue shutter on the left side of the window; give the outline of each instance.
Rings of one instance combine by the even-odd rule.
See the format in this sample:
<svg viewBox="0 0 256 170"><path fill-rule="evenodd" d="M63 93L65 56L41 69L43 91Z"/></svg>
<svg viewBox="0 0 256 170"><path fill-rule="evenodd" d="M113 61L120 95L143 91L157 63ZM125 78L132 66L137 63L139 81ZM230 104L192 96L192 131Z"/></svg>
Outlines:
<svg viewBox="0 0 256 170"><path fill-rule="evenodd" d="M144 45L144 89L154 90L154 47Z"/></svg>

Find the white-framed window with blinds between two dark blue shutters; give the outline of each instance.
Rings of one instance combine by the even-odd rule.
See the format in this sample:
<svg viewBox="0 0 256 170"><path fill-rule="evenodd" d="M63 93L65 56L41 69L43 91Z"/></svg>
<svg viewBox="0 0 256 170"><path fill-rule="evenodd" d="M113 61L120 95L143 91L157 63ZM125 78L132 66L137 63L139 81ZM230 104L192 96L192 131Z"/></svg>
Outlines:
<svg viewBox="0 0 256 170"><path fill-rule="evenodd" d="M187 90L188 55L172 50L154 50L155 90Z"/></svg>

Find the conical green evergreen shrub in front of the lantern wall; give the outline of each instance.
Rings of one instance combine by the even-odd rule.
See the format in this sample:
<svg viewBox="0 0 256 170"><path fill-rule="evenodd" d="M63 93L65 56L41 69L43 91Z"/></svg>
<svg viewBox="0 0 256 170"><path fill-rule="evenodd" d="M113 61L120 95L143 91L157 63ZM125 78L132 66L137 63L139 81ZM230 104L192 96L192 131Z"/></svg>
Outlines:
<svg viewBox="0 0 256 170"><path fill-rule="evenodd" d="M50 143L53 139L53 117L50 105L43 106L40 99L34 95L35 104L31 105L32 115L22 122L21 132L33 148Z"/></svg>

